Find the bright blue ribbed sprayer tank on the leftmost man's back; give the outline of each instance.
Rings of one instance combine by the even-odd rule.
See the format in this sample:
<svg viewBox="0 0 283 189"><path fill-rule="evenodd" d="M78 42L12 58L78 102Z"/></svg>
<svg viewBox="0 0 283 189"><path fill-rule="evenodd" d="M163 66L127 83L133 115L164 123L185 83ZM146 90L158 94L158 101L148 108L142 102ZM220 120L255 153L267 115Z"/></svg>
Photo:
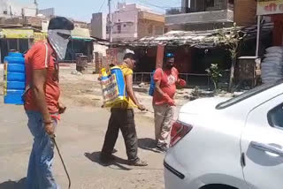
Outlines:
<svg viewBox="0 0 283 189"><path fill-rule="evenodd" d="M24 104L22 95L25 88L25 57L21 53L10 52L8 57L4 57L4 103Z"/></svg>

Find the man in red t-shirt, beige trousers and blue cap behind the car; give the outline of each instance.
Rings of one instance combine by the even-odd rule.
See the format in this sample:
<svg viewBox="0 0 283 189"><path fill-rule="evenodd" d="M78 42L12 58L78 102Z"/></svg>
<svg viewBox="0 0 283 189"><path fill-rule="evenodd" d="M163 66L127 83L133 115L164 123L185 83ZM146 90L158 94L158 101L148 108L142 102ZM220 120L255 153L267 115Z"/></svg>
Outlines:
<svg viewBox="0 0 283 189"><path fill-rule="evenodd" d="M174 95L176 84L186 85L186 81L179 79L179 72L174 67L174 57L172 53L166 54L164 68L158 68L155 72L154 81L156 83L153 95L153 108L155 112L155 130L157 149L167 150L167 138L172 127L174 117Z"/></svg>

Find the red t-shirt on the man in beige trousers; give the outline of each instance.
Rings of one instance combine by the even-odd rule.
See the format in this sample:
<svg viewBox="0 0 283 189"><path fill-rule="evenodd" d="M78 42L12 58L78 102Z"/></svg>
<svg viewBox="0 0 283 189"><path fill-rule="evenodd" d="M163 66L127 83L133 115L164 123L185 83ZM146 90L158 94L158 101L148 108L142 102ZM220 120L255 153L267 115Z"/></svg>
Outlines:
<svg viewBox="0 0 283 189"><path fill-rule="evenodd" d="M153 79L155 82L160 81L161 90L169 95L172 99L176 93L176 82L178 81L179 72L176 68L172 68L170 71L163 71L158 68L154 73ZM160 95L157 91L153 95L153 104L162 105L167 103L164 96Z"/></svg>

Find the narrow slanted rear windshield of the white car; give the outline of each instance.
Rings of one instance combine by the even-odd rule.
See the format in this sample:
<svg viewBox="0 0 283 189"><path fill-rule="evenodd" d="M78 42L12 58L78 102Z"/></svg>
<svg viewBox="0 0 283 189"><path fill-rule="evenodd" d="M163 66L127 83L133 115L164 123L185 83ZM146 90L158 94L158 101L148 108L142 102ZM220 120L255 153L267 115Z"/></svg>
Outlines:
<svg viewBox="0 0 283 189"><path fill-rule="evenodd" d="M232 99L229 99L228 101L226 102L221 102L217 105L216 109L217 110L221 110L221 109L225 109L229 106L232 106L233 104L236 104L238 102L241 102L243 100L246 100L248 99L249 97L251 96L254 96L254 95L257 95L257 94L260 94L262 92L264 92L265 90L269 89L269 88L272 88L272 87L275 87L275 86L278 86L280 85L281 83L283 83L283 79L280 79L278 81L274 81L272 83L269 83L269 84L264 84L262 86L259 86L259 87L256 87L256 88L253 88L245 93L243 93L242 95L239 95L239 96L236 96Z"/></svg>

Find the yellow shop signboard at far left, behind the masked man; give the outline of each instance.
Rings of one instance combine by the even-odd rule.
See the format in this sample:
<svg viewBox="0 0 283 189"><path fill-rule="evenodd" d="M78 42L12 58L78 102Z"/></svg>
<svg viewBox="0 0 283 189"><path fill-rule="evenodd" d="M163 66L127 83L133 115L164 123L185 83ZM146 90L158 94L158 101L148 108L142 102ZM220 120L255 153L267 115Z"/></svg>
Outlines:
<svg viewBox="0 0 283 189"><path fill-rule="evenodd" d="M2 34L6 39L34 38L34 30L31 29L3 29Z"/></svg>

